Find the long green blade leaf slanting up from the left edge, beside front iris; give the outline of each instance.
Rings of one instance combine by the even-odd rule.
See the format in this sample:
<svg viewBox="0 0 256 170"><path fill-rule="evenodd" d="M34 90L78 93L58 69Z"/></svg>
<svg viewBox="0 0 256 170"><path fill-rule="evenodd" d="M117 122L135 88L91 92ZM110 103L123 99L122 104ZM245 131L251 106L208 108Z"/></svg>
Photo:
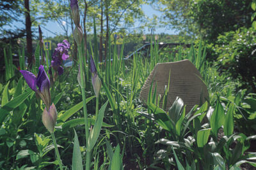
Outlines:
<svg viewBox="0 0 256 170"><path fill-rule="evenodd" d="M2 108L0 108L0 124L2 124L4 118L10 111L12 111L14 108L17 108L20 104L22 104L27 97L29 97L32 93L32 90L29 89L27 92L24 92L23 94L20 94L19 96L12 99L12 101L9 101L6 103Z"/></svg>

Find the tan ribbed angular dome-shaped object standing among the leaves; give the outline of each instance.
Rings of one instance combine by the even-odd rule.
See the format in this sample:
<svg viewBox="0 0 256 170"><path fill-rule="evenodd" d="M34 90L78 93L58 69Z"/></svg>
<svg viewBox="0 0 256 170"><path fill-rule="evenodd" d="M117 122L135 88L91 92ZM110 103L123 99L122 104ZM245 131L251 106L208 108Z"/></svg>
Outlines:
<svg viewBox="0 0 256 170"><path fill-rule="evenodd" d="M205 99L208 99L209 93L207 87L202 81L202 76L196 67L189 60L181 60L178 62L157 63L153 71L145 81L140 99L147 103L148 92L153 82L152 95L154 94L155 86L157 85L156 94L164 95L164 88L168 86L168 78L170 72L170 87L166 108L172 106L176 97L180 97L186 104L186 113L188 113L195 104L203 104ZM158 98L158 97L157 97ZM159 104L162 106L162 103Z"/></svg>

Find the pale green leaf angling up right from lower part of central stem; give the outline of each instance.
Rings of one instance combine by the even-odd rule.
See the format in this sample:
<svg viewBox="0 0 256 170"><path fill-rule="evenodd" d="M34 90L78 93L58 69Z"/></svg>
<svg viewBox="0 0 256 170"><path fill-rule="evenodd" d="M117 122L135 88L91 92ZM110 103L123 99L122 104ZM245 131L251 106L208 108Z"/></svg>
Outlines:
<svg viewBox="0 0 256 170"><path fill-rule="evenodd" d="M99 138L99 134L100 134L100 130L102 127L102 122L103 122L103 117L104 117L104 113L105 113L107 105L108 105L108 101L106 101L106 103L104 103L103 106L100 108L95 125L94 125L92 131L90 131L89 139L88 139L88 150L93 149L95 143L97 142L97 139Z"/></svg>

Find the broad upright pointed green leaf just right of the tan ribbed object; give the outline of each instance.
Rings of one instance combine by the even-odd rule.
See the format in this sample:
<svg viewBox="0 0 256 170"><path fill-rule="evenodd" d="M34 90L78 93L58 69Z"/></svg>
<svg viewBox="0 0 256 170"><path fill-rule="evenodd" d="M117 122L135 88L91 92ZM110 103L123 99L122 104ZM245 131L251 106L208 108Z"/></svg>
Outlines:
<svg viewBox="0 0 256 170"><path fill-rule="evenodd" d="M216 108L214 109L211 118L210 125L212 128L212 133L217 138L218 130L225 123L225 114L223 106L220 103L220 97L217 100Z"/></svg>

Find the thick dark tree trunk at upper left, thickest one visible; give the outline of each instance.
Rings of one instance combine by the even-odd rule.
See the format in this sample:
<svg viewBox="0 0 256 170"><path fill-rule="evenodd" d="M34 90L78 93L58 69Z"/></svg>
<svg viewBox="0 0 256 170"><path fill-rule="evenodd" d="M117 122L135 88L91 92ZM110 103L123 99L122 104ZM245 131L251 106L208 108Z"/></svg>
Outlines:
<svg viewBox="0 0 256 170"><path fill-rule="evenodd" d="M27 50L28 50L28 66L30 67L33 61L32 53L32 32L31 32L31 19L30 19L30 11L29 11L29 0L24 0L25 8L26 8L26 41L27 41Z"/></svg>

